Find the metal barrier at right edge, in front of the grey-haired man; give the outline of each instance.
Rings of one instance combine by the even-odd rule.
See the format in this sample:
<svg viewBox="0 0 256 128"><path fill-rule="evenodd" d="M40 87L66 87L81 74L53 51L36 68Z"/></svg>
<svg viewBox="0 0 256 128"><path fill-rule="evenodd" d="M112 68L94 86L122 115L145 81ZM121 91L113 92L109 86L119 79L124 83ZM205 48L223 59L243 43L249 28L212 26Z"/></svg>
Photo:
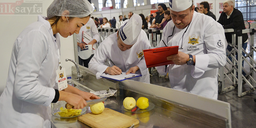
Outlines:
<svg viewBox="0 0 256 128"><path fill-rule="evenodd" d="M227 50L227 64L224 67L219 68L219 92L227 92L238 88L238 97L244 96L251 93L255 90L256 81L254 79L254 73L256 72L256 62L254 60L254 52L256 52L256 47L254 47L254 29L244 29L244 30L234 30L234 29L225 29L225 33L232 32L232 50ZM250 34L250 51L247 53L242 47L242 34ZM236 36L238 37L238 45L236 45ZM242 55L242 52L245 53L245 56ZM237 54L237 57L236 57ZM228 57L231 57L230 60ZM242 62L248 64L250 70L247 71L243 66ZM244 74L242 72L244 71ZM227 81L224 81L225 80ZM231 83L232 86L227 86ZM227 84L227 85L225 85ZM249 90L242 90L243 85L248 85Z"/></svg>

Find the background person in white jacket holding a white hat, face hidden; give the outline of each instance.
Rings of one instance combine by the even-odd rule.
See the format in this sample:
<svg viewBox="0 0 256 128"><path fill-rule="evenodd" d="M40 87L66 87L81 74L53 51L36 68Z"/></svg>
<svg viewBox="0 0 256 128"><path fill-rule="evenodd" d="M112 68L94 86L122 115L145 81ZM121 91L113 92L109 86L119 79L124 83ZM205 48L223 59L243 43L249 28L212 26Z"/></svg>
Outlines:
<svg viewBox="0 0 256 128"><path fill-rule="evenodd" d="M86 32L86 34L88 34L92 37L92 41L89 42L87 45L92 45L92 47L96 48L95 43L97 43L100 40L100 34L98 32L97 27L95 26L93 19L89 19L89 21L84 26L81 27L79 34L77 34L77 36L76 36L77 45L78 45L78 47L80 47L80 49L84 49L85 45L86 45L83 42L83 32ZM78 50L78 52L80 52L80 51ZM86 68L88 68L88 63L90 62L91 58L93 57L94 52L95 52L95 49L92 49L91 55L87 55L88 58L86 58L86 59L82 59L78 56L79 65L82 65L82 66L85 66Z"/></svg>

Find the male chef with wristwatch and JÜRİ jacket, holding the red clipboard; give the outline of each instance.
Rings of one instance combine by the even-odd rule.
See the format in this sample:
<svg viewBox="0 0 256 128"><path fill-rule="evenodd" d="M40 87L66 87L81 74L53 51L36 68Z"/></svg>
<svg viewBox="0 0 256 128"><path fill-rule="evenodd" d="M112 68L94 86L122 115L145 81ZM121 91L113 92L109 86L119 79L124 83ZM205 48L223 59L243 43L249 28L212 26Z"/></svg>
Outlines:
<svg viewBox="0 0 256 128"><path fill-rule="evenodd" d="M222 25L210 16L194 11L192 0L170 0L172 21L163 30L159 47L179 46L167 57L174 64L157 67L171 88L211 99L218 97L218 68L226 63L225 34ZM164 41L164 42L163 42Z"/></svg>

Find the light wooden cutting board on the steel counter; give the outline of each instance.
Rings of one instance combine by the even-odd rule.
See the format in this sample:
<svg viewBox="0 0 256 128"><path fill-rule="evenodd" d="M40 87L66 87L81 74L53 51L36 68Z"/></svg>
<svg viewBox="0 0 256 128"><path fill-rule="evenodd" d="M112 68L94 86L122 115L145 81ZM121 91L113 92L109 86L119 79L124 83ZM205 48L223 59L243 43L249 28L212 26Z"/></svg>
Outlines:
<svg viewBox="0 0 256 128"><path fill-rule="evenodd" d="M105 108L97 115L93 113L81 115L78 120L92 128L129 128L133 124L139 124L139 120L109 108Z"/></svg>

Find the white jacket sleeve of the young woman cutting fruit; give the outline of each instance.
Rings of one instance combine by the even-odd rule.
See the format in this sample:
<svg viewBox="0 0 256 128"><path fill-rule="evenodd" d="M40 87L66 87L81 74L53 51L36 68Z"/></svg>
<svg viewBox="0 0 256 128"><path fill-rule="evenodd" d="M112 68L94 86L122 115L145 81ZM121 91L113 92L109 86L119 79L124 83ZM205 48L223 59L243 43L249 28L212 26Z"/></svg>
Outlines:
<svg viewBox="0 0 256 128"><path fill-rule="evenodd" d="M17 66L14 93L18 99L49 106L55 98L55 90L39 84L41 65L49 52L48 38L39 30L28 32L23 39L17 38ZM20 40L20 41L19 41Z"/></svg>

